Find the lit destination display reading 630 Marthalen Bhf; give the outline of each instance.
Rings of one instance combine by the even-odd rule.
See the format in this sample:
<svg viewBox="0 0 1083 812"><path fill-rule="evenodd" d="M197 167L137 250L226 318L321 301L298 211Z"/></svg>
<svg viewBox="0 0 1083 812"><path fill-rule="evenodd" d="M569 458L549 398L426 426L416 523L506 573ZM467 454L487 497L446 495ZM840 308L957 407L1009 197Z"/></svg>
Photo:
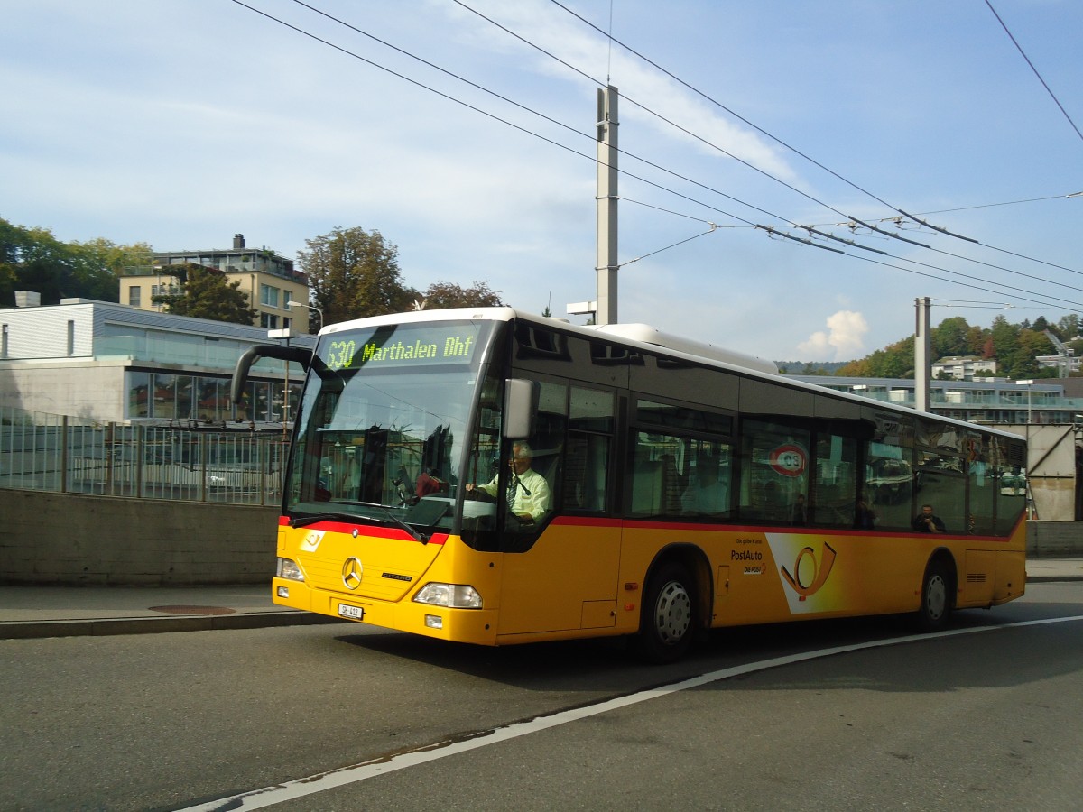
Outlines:
<svg viewBox="0 0 1083 812"><path fill-rule="evenodd" d="M430 324L389 327L364 333L340 333L319 346L328 369L469 364L478 349L477 324Z"/></svg>

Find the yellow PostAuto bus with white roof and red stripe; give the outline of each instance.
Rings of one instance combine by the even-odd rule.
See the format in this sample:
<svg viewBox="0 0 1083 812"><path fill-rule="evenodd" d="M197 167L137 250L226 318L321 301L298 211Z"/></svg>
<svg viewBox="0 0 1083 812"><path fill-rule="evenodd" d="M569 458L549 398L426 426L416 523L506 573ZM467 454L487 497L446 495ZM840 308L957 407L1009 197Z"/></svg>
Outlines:
<svg viewBox="0 0 1083 812"><path fill-rule="evenodd" d="M637 325L511 309L321 330L274 601L442 640L629 636L1023 594L1017 436L787 380Z"/></svg>

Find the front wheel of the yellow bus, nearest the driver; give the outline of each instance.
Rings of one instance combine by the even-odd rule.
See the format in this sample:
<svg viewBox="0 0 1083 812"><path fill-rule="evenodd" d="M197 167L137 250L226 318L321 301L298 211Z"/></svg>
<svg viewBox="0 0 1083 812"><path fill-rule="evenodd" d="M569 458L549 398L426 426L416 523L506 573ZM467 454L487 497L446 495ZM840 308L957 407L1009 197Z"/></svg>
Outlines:
<svg viewBox="0 0 1083 812"><path fill-rule="evenodd" d="M651 574L639 621L639 653L651 663L674 663L695 633L695 581L683 564L670 561Z"/></svg>

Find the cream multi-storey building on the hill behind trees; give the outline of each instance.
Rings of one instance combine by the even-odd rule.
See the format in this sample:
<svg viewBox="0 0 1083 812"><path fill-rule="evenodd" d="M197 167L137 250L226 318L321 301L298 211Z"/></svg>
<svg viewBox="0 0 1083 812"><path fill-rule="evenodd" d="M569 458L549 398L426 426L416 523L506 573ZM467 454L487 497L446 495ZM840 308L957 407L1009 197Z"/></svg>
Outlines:
<svg viewBox="0 0 1083 812"><path fill-rule="evenodd" d="M152 266L125 270L120 277L121 303L160 313L164 307L154 302L154 297L175 292L180 287L177 276L168 269L185 263L213 269L225 274L229 281L239 281L249 304L257 311L255 324L259 327L309 331L312 310L306 306L308 277L293 270L292 260L266 248L246 247L244 234L233 235L232 248L155 251ZM295 302L297 304L290 306Z"/></svg>

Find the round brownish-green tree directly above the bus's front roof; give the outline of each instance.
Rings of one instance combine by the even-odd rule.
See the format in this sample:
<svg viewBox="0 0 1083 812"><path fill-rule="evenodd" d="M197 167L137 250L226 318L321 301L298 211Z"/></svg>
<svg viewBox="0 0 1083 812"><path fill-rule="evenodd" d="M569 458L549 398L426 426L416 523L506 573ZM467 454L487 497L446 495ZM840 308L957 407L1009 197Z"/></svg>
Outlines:
<svg viewBox="0 0 1083 812"><path fill-rule="evenodd" d="M403 285L399 248L378 231L336 227L304 241L298 264L327 324L410 310L421 298Z"/></svg>

